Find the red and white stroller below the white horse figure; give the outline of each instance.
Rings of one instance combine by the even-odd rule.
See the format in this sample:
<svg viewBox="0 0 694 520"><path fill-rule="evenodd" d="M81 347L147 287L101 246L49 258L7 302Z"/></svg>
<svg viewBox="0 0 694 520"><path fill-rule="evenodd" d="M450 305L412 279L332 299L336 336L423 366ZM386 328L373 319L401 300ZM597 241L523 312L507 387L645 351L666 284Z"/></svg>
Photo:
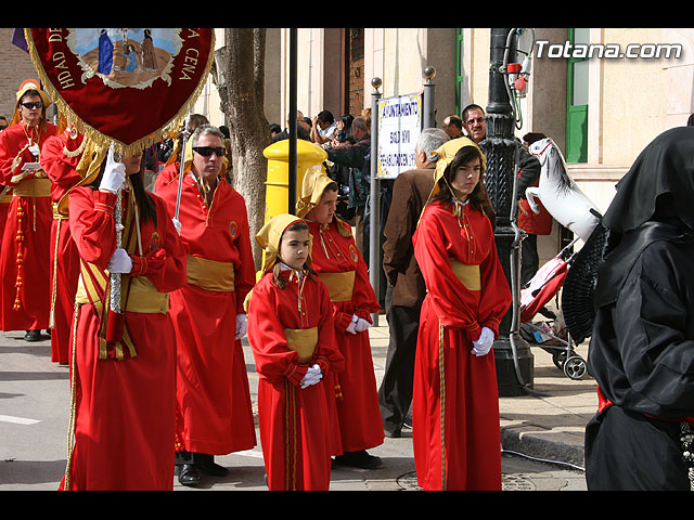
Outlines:
<svg viewBox="0 0 694 520"><path fill-rule="evenodd" d="M542 350L552 354L554 365L570 379L582 379L587 373L586 361L576 353L571 336L564 325L563 317L544 308L552 298L557 297L576 253L571 247L575 238L554 258L542 265L535 276L520 289L519 318L520 335ZM532 323L538 314L551 318L541 325ZM552 323L553 321L553 323ZM548 326L548 323L551 326Z"/></svg>

